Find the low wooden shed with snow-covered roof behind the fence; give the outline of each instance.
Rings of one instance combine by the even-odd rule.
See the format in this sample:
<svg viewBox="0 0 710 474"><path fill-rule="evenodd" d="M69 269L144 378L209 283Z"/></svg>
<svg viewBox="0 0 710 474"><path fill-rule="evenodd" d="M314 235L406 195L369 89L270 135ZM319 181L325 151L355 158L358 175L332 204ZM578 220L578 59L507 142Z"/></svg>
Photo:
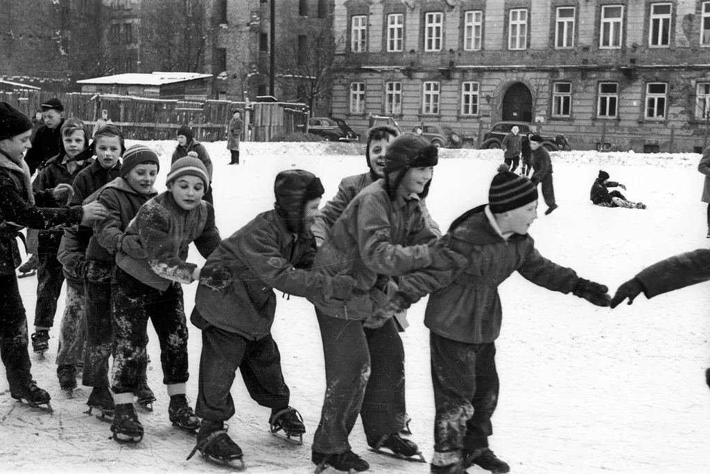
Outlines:
<svg viewBox="0 0 710 474"><path fill-rule="evenodd" d="M85 94L117 94L178 101L206 101L212 74L196 72L153 72L115 74L77 81Z"/></svg>

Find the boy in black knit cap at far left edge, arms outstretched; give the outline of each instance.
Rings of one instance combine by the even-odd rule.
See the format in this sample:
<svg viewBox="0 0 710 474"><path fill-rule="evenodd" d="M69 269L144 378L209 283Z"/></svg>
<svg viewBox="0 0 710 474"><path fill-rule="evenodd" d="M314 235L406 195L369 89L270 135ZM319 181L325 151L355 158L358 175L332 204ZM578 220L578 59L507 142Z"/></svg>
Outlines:
<svg viewBox="0 0 710 474"><path fill-rule="evenodd" d="M71 186L33 193L30 171L23 155L32 145L32 122L9 103L0 102L0 356L5 365L10 395L31 406L49 405L50 395L32 380L27 351L27 319L17 285L20 253L16 237L23 227L46 229L102 218L102 205L41 208L67 196Z"/></svg>

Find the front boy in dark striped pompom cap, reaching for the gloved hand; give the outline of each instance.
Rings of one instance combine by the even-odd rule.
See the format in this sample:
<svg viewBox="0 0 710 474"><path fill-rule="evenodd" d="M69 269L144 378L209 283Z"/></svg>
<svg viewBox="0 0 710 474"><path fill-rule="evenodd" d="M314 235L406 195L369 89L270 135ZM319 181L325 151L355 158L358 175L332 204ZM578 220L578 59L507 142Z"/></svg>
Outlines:
<svg viewBox="0 0 710 474"><path fill-rule="evenodd" d="M548 290L609 305L606 286L579 278L537 252L528 235L536 218L537 188L502 164L491 182L488 204L454 220L443 238L469 263L455 270L412 273L394 295L395 305L406 307L434 291L424 320L430 329L436 406L432 473L464 474L472 464L494 473L509 470L488 448L488 436L493 434L499 388L495 340L503 313L498 286L513 271Z"/></svg>

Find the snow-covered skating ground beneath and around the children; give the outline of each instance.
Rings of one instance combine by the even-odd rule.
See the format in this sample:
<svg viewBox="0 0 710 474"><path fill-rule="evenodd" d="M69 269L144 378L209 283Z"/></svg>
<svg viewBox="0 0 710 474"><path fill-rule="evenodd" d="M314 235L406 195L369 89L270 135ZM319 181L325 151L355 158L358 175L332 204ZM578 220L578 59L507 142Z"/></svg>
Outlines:
<svg viewBox="0 0 710 474"><path fill-rule="evenodd" d="M148 142L162 153L162 188L175 142ZM224 142L207 144L214 162L214 201L226 237L253 215L273 205L273 178L283 169L314 171L337 191L343 176L366 169L364 157L325 144L244 144L239 167L226 166ZM353 148L355 149L355 148ZM357 149L361 150L361 148ZM327 152L327 156L324 153ZM442 228L464 210L486 201L501 152L444 150L435 169L427 205ZM611 290L665 256L706 247L706 205L697 154L641 155L569 152L553 155L559 209L542 212L532 225L537 248L581 276ZM647 210L599 208L589 188L603 167L628 186L626 196ZM191 259L202 259L194 250ZM32 321L36 278L20 281ZM185 307L195 285L185 287ZM616 310L589 305L572 295L538 288L517 274L501 286L503 331L498 339L501 396L493 417L491 447L515 474L707 473L710 466L710 366L707 284L662 295L641 296ZM407 354L408 412L412 439L427 459L433 451L434 416L428 362L428 332L422 325L426 301L409 312L403 334ZM150 329L148 379L158 396L155 411L139 410L146 428L141 444L109 439L109 424L84 414L88 388L68 399L55 375L60 310L45 360L34 354L33 376L53 394L55 412L33 410L11 399L0 368L1 473L207 473L228 469L199 456L185 461L194 436L170 426L168 395L162 385L158 340ZM275 339L283 356L291 405L307 427L303 446L268 434L268 410L246 394L237 378L232 394L236 415L229 434L244 449L251 473L310 473L310 443L324 393L322 346L312 305L300 298L278 300ZM192 378L187 392L197 397L200 331L190 327ZM81 385L80 385L81 387ZM373 473L428 473L427 464L405 463L369 453L356 425L354 451ZM470 474L484 473L480 468Z"/></svg>

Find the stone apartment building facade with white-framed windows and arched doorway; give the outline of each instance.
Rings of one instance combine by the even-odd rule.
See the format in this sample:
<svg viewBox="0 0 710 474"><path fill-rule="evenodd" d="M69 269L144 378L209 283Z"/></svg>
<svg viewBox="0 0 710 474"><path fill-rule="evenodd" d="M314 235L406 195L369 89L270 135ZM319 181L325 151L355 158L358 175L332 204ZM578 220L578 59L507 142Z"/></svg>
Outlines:
<svg viewBox="0 0 710 474"><path fill-rule="evenodd" d="M710 1L336 0L332 114L537 123L577 149L710 145Z"/></svg>

